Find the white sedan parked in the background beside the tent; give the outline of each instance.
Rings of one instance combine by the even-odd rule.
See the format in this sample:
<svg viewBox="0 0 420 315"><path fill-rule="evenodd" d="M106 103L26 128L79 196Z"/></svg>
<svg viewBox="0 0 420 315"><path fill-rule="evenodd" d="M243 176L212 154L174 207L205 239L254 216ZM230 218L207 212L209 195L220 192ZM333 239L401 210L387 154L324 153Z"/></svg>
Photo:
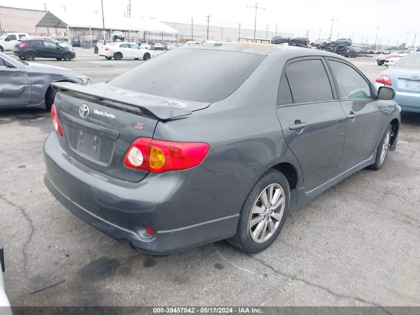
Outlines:
<svg viewBox="0 0 420 315"><path fill-rule="evenodd" d="M153 58L152 51L142 49L134 43L126 42L113 42L103 47L99 47L98 55L104 56L108 60L112 58L114 58L115 60L121 60L123 58L148 60L150 58Z"/></svg>

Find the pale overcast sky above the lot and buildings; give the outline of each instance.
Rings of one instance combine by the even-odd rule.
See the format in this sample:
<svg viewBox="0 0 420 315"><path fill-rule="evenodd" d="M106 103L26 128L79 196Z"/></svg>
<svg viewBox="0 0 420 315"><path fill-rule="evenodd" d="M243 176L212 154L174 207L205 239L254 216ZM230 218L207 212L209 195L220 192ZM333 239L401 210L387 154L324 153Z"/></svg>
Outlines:
<svg viewBox="0 0 420 315"><path fill-rule="evenodd" d="M247 5L255 5L255 0L131 0L131 16L156 18L161 21L207 24L210 25L254 28L255 9ZM0 0L0 5L30 9L47 8L57 11L71 10L75 12L101 13L100 0ZM103 0L106 15L124 16L129 0ZM399 4L401 3L401 4ZM269 31L293 33L305 36L309 30L309 38L315 40L330 37L331 19L338 20L333 25L333 40L338 37L353 38L353 42L373 44L379 25L377 41L383 45L401 44L406 41L412 45L416 36L416 46L420 45L420 0L260 0L256 28ZM320 31L321 30L321 31ZM353 35L354 34L354 35Z"/></svg>

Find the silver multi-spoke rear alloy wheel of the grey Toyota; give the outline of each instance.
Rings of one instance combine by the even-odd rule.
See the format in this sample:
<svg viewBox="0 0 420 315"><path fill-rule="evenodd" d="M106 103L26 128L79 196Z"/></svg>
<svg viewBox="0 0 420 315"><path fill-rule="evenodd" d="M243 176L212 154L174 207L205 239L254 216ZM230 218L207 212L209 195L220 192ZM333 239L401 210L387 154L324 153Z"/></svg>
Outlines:
<svg viewBox="0 0 420 315"><path fill-rule="evenodd" d="M274 234L283 218L285 205L285 193L280 184L271 184L259 194L250 220L254 242L263 243Z"/></svg>

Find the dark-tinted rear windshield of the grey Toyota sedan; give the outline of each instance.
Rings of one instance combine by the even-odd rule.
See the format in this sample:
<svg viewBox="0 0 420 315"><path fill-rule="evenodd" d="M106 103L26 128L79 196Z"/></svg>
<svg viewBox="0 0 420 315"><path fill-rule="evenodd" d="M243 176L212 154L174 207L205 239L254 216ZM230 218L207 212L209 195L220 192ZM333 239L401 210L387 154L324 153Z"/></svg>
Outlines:
<svg viewBox="0 0 420 315"><path fill-rule="evenodd" d="M238 89L264 55L206 49L173 49L108 82L130 91L214 103Z"/></svg>

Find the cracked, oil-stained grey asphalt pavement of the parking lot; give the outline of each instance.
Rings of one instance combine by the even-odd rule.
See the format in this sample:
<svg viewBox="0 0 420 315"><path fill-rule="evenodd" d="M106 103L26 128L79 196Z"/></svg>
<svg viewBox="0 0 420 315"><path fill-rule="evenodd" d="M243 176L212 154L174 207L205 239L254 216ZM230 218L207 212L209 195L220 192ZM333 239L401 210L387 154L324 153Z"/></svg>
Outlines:
<svg viewBox="0 0 420 315"><path fill-rule="evenodd" d="M93 83L142 63L76 48ZM351 59L374 80L374 58ZM402 114L397 150L291 211L248 255L220 241L168 256L135 252L64 209L44 183L44 110L0 112L0 242L13 306L420 306L420 114ZM48 286L51 286L42 291Z"/></svg>

